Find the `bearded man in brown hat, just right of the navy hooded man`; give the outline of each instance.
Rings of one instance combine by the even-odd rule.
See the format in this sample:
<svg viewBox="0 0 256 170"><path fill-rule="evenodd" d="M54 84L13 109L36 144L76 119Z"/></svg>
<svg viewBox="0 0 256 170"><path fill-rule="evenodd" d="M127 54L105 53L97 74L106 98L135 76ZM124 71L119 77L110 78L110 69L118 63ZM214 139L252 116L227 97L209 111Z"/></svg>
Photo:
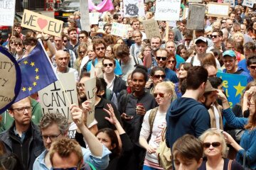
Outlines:
<svg viewBox="0 0 256 170"><path fill-rule="evenodd" d="M198 99L207 109L210 115L210 128L217 128L223 130L222 107L218 105L217 101L218 89L213 88L208 80L206 82L206 91Z"/></svg>

